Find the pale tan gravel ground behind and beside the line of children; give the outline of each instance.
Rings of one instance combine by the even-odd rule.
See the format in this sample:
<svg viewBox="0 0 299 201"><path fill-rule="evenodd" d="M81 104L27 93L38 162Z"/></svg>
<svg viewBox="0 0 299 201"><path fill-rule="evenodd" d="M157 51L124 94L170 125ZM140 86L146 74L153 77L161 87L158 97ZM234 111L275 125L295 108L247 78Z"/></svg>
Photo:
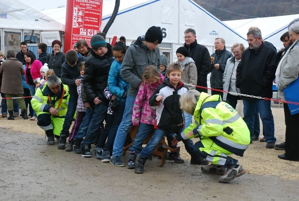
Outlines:
<svg viewBox="0 0 299 201"><path fill-rule="evenodd" d="M285 124L283 108L272 107L271 109L274 116L277 143L284 142ZM22 117L17 117L14 121L0 118L0 127L15 132L45 135L42 129L36 125L36 121L23 120ZM194 138L193 141L198 141L198 138ZM182 143L179 143L179 146L184 147ZM299 162L281 160L277 158L277 155L283 154L284 151L266 149L265 146L266 143L254 141L245 151L244 157L233 157L239 160L239 163L247 170L248 174L277 176L285 180L299 180ZM78 155L78 157L80 156ZM181 158L190 160L190 155L187 154L184 148L181 149Z"/></svg>

